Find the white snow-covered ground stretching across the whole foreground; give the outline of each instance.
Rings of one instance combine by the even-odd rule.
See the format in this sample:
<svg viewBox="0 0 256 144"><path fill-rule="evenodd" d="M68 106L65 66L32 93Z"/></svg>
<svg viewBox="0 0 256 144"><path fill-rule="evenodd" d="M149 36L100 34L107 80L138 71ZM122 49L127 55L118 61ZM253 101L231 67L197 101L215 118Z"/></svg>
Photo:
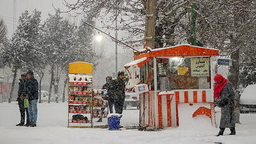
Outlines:
<svg viewBox="0 0 256 144"><path fill-rule="evenodd" d="M211 127L206 117L195 125L191 120L180 120L180 127L157 132L108 131L108 129L79 129L67 127L67 103L38 104L38 127L16 127L19 123L19 108L16 102L0 103L0 143L232 143L246 144L256 141L256 114L241 114L242 125L237 125L237 135L216 137L218 129ZM124 111L122 125L138 125L138 110ZM220 113L217 113L220 122ZM186 123L186 124L185 124ZM209 123L209 125L208 125ZM184 126L186 125L186 126Z"/></svg>

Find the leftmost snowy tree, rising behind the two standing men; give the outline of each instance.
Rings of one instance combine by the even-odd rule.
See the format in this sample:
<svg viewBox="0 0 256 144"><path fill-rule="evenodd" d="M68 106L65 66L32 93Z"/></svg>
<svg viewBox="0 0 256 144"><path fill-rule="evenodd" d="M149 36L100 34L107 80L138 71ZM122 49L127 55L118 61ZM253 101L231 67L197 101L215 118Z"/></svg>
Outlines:
<svg viewBox="0 0 256 144"><path fill-rule="evenodd" d="M40 15L41 12L37 10L33 10L31 15L28 11L22 13L12 39L4 42L3 61L8 67L12 68L13 72L12 88L8 102L11 102L13 97L17 70L32 69L40 58L40 52L37 51L36 45L40 28Z"/></svg>

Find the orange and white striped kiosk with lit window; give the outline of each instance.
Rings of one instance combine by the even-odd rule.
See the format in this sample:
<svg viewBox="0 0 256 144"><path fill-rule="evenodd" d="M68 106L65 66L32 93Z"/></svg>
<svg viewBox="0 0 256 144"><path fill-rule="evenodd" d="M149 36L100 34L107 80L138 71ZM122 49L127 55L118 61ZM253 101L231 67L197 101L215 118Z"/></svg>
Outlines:
<svg viewBox="0 0 256 144"><path fill-rule="evenodd" d="M134 52L134 61L127 63L125 69L135 74L131 81L140 79L148 86L147 92L140 92L141 85L137 86L140 125L178 127L180 104L188 109L196 107L191 118L205 115L216 125L213 61L218 54L217 49L189 44ZM140 68L140 74L129 71L134 67ZM141 88L145 90L145 85Z"/></svg>

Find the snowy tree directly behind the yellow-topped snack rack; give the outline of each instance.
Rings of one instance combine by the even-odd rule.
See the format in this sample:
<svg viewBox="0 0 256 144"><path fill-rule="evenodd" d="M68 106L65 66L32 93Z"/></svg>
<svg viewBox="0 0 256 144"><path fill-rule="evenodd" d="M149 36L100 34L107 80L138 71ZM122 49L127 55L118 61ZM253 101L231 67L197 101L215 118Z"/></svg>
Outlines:
<svg viewBox="0 0 256 144"><path fill-rule="evenodd" d="M95 22L90 16L83 17L78 27L73 25L67 26L73 31L67 31L67 55L66 61L63 63L63 74L67 77L63 84L63 97L62 102L65 101L65 91L68 81L68 63L75 61L86 61L97 65L97 58L99 56L93 51L92 40L93 40L93 28L88 27L84 21L94 25ZM68 34L69 33L69 34Z"/></svg>

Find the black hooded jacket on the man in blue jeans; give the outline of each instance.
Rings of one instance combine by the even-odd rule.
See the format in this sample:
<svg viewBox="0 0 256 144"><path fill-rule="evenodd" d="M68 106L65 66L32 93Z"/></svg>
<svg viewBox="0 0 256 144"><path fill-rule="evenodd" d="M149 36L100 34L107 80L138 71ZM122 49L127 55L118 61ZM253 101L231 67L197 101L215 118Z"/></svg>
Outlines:
<svg viewBox="0 0 256 144"><path fill-rule="evenodd" d="M24 94L25 96L28 94L29 101L38 100L38 82L34 77L26 79Z"/></svg>

